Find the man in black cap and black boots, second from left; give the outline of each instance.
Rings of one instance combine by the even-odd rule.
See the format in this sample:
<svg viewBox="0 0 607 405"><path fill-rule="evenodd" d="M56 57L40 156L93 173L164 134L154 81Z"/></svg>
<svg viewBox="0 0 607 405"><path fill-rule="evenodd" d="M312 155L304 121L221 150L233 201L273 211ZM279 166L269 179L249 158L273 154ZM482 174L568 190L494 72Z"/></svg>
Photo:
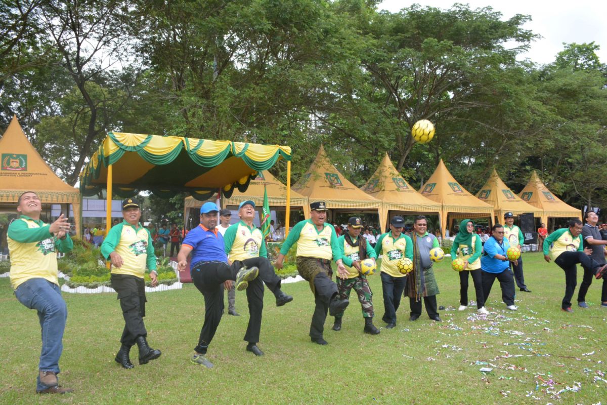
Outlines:
<svg viewBox="0 0 607 405"><path fill-rule="evenodd" d="M124 330L120 342L122 346L116 355L116 362L125 369L134 366L129 352L135 343L139 347L139 364L160 357L160 350L149 347L148 332L143 324L146 316L146 293L143 279L146 267L152 279L152 287L158 284L154 243L149 231L139 219L141 209L135 199L122 202L123 222L112 226L101 244L101 254L112 262L110 281L118 293L124 317Z"/></svg>

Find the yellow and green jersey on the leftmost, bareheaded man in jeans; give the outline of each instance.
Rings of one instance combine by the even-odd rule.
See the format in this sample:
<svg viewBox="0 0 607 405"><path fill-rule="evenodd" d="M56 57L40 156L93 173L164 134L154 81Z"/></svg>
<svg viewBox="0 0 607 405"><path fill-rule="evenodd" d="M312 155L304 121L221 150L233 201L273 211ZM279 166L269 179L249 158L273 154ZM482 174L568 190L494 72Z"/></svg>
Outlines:
<svg viewBox="0 0 607 405"><path fill-rule="evenodd" d="M38 240L32 240L34 238ZM67 235L65 240L56 239L49 233L49 225L41 220L21 217L13 221L7 231L10 284L13 290L33 278L45 279L59 285L57 248L63 253L70 251L73 242L69 238Z"/></svg>

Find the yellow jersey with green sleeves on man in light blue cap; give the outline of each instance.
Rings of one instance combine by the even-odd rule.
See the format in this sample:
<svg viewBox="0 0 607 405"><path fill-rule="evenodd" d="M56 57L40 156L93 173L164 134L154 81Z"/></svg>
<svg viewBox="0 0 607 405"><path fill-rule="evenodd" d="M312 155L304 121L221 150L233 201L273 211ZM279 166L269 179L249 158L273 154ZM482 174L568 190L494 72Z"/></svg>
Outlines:
<svg viewBox="0 0 607 405"><path fill-rule="evenodd" d="M226 230L223 241L231 261L267 256L263 233L255 225L249 228L242 221L235 223Z"/></svg>

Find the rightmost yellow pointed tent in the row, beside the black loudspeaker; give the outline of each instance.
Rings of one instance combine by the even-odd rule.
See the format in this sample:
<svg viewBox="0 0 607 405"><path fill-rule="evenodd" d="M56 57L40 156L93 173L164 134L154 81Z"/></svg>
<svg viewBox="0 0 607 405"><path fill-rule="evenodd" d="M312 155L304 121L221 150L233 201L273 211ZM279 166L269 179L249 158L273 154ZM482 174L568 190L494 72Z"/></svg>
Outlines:
<svg viewBox="0 0 607 405"><path fill-rule="evenodd" d="M564 203L541 182L535 170L529 183L518 194L527 203L543 210L541 222L548 225L548 217L568 217L582 219L582 210Z"/></svg>

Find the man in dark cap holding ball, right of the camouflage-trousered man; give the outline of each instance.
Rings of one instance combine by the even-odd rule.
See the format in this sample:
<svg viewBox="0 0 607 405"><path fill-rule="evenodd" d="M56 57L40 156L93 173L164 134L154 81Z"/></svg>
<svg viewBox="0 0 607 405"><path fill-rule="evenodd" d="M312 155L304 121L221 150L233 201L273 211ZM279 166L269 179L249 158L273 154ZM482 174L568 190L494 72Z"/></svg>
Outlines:
<svg viewBox="0 0 607 405"><path fill-rule="evenodd" d="M390 220L390 232L382 234L375 245L375 253L382 254L381 284L384 291L384 316L382 321L387 323L386 328L396 327L396 310L401 304L402 292L407 285L407 274L398 270L398 261L403 257L413 260L413 242L411 238L402 233L405 220L395 216Z"/></svg>

